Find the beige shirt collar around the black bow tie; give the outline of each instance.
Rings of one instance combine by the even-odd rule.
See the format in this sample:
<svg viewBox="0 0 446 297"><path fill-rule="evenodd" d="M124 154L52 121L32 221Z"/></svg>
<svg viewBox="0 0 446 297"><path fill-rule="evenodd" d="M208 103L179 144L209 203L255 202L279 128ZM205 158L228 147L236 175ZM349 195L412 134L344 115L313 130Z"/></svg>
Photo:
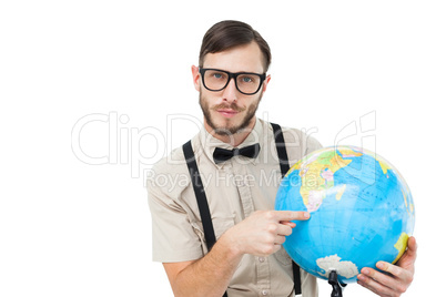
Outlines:
<svg viewBox="0 0 446 297"><path fill-rule="evenodd" d="M222 142L221 140L215 139L211 133L206 131L206 129L203 126L200 131L200 144L201 148L203 150L204 154L211 160L212 163L214 163L213 158L213 153L215 147L221 147L221 148L226 148L226 150L233 150L235 148L229 143ZM236 147L242 148L255 143L260 143L261 145L261 152L262 152L262 146L264 145L263 143L263 126L261 121L256 117L255 119L255 124L251 133L247 135L247 137ZM243 158L243 162L246 163L252 163L252 164L257 164L260 162L260 155L255 158L249 158L244 156L234 156L232 160L235 158ZM220 164L215 164L216 167L222 168L226 163L230 163L231 161L226 161Z"/></svg>

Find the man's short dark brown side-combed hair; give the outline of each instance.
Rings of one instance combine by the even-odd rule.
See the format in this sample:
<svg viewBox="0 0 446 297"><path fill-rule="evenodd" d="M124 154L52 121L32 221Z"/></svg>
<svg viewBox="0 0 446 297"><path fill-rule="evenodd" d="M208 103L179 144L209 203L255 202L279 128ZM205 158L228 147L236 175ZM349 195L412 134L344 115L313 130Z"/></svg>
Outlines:
<svg viewBox="0 0 446 297"><path fill-rule="evenodd" d="M226 51L253 41L263 53L266 72L271 64L270 45L250 24L241 21L221 21L207 30L201 44L199 65L203 66L204 55L207 53Z"/></svg>

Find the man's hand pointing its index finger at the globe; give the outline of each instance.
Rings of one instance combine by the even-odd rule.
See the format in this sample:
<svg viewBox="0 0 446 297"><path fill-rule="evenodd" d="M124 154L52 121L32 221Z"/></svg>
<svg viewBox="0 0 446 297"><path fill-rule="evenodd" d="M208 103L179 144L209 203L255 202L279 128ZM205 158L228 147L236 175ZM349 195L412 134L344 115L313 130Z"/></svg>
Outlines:
<svg viewBox="0 0 446 297"><path fill-rule="evenodd" d="M296 224L291 221L306 221L306 212L263 211L255 212L223 236L236 254L268 256L281 249L285 236ZM222 236L222 237L223 237Z"/></svg>

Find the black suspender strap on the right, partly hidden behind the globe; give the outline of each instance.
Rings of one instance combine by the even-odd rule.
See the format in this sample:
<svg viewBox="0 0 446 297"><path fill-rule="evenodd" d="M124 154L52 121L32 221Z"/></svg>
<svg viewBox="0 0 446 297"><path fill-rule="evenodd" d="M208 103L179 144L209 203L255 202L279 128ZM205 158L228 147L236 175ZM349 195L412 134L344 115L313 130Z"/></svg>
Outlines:
<svg viewBox="0 0 446 297"><path fill-rule="evenodd" d="M285 140L283 139L281 126L273 123L271 123L271 125L273 126L274 131L275 147L277 150L278 164L281 165L282 177L284 177L290 170L288 155L286 154L285 148ZM294 277L294 293L296 295L300 295L302 294L301 269L294 260L293 260L293 277Z"/></svg>

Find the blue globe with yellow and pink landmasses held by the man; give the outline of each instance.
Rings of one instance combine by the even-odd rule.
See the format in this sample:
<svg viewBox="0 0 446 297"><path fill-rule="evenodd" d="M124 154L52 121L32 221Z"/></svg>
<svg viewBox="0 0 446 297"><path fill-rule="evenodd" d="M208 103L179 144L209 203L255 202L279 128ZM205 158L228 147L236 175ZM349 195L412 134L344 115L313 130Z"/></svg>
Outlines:
<svg viewBox="0 0 446 297"><path fill-rule="evenodd" d="M325 147L290 168L277 191L275 209L305 211L308 221L283 244L307 273L339 283L356 281L363 267L395 264L414 231L410 191L383 157L355 146Z"/></svg>

